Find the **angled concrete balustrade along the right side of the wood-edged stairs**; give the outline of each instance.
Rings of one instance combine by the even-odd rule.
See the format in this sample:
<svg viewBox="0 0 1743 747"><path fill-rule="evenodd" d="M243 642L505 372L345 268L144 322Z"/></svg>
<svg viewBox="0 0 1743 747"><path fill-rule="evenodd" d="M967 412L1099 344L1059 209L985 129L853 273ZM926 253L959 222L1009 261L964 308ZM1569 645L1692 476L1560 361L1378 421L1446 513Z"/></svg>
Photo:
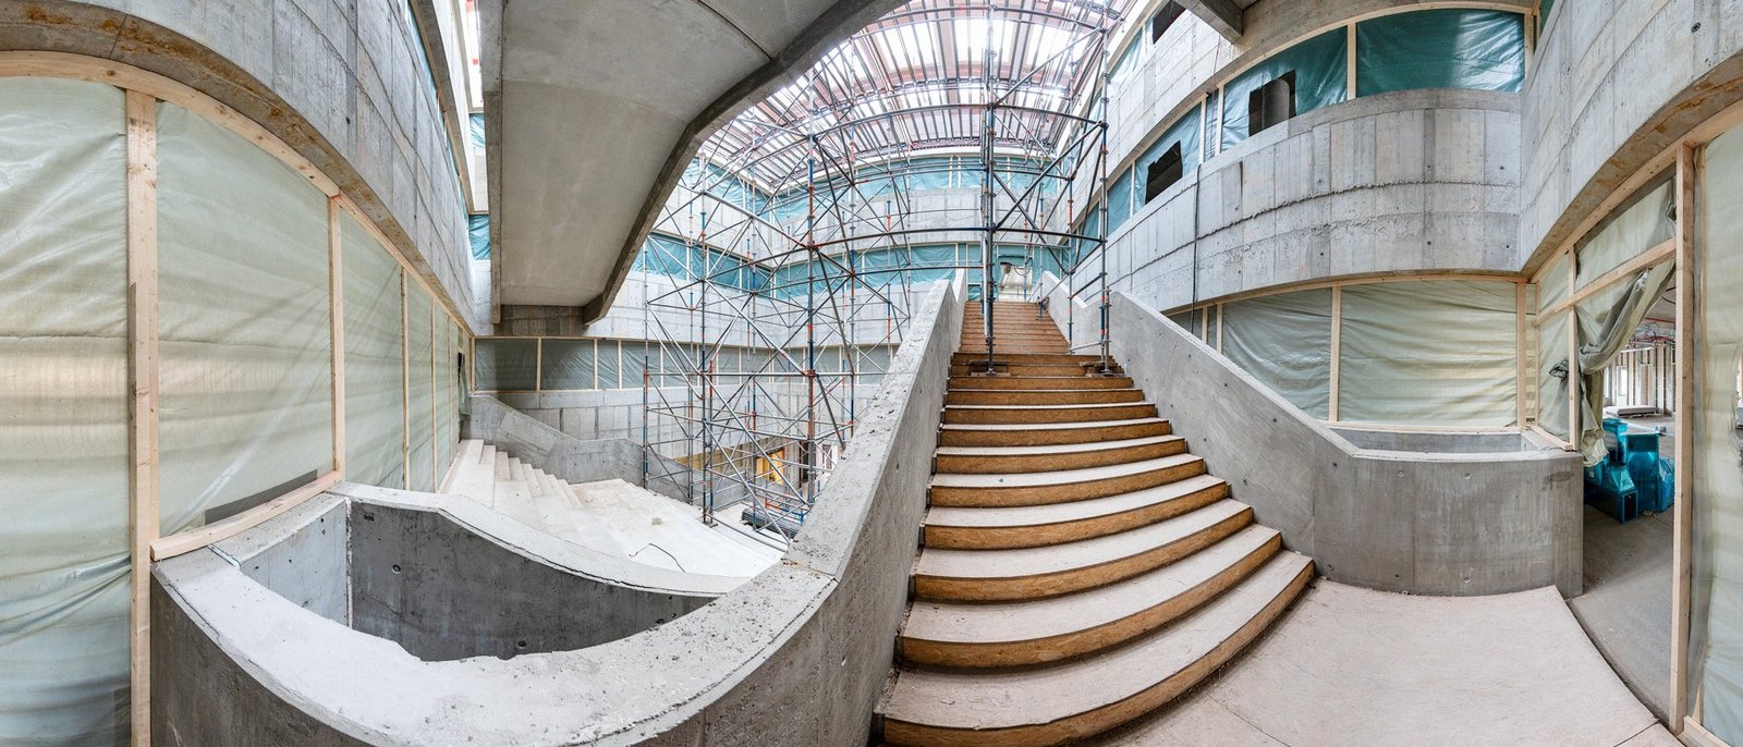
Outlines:
<svg viewBox="0 0 1743 747"><path fill-rule="evenodd" d="M1055 294L1055 319L1065 303ZM1190 451L1326 578L1434 596L1579 594L1577 454L1360 449L1124 293L1110 327L1114 357Z"/></svg>

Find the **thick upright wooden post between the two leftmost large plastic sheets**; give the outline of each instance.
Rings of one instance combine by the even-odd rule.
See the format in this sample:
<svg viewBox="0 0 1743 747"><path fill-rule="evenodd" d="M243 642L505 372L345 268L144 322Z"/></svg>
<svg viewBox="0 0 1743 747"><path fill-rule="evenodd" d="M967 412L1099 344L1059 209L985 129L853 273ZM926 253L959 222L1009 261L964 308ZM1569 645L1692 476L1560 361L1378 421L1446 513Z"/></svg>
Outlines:
<svg viewBox="0 0 1743 747"><path fill-rule="evenodd" d="M129 709L134 747L152 744L152 542L160 531L157 385L157 98L127 91Z"/></svg>

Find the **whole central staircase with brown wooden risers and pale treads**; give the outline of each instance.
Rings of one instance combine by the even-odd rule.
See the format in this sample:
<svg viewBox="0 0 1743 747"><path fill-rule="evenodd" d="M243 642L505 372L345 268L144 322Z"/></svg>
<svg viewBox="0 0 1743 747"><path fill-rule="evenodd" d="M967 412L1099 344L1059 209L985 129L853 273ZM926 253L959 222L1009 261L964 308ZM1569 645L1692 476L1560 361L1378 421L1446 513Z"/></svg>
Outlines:
<svg viewBox="0 0 1743 747"><path fill-rule="evenodd" d="M1055 745L1138 717L1276 620L1312 561L1229 498L1131 378L1032 303L952 360L898 669L898 745Z"/></svg>

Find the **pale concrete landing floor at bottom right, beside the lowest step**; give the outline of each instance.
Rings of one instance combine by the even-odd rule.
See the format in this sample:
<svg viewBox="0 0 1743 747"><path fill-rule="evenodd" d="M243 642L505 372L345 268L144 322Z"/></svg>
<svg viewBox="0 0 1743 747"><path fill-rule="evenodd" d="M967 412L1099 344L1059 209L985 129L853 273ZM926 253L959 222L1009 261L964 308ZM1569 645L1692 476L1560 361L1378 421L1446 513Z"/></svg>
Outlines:
<svg viewBox="0 0 1743 747"><path fill-rule="evenodd" d="M1677 745L1555 589L1414 597L1316 582L1175 705L1103 745Z"/></svg>

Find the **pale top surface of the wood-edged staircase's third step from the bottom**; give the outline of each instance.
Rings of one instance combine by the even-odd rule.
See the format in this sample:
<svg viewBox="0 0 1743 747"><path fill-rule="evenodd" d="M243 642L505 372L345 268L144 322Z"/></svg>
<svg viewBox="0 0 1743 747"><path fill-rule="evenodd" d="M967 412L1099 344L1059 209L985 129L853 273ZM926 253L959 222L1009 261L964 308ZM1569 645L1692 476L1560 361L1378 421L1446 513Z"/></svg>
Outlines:
<svg viewBox="0 0 1743 747"><path fill-rule="evenodd" d="M938 578L1025 578L1091 568L1138 555L1157 547L1210 531L1224 521L1251 512L1246 503L1224 498L1190 514L1119 535L1014 550L946 550L927 547L913 562L917 576Z"/></svg>

